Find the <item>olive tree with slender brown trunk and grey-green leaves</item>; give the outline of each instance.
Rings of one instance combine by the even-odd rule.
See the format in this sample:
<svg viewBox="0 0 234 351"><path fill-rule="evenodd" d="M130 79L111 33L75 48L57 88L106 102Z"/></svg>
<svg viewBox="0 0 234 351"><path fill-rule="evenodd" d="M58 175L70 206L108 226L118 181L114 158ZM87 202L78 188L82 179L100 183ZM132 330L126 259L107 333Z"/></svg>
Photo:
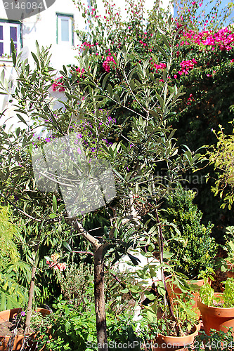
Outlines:
<svg viewBox="0 0 234 351"><path fill-rule="evenodd" d="M32 53L35 67L30 67L27 60L20 60L20 55L16 57L13 52L18 78L12 98L18 119L25 126L18 126L8 133L1 126L1 198L16 209L18 216L43 226L53 225L58 234L63 225L71 226L77 235L91 245L98 350L108 350L104 296L105 256L114 256L116 261L124 252L127 253L136 238L145 241L146 245L149 244L152 233L156 233L155 245L160 251L162 286L166 290L163 237L157 208L167 189L170 190L178 182L181 173L188 166L193 166L199 158L199 154L190 152L186 147L181 150L176 145L175 131L171 130L168 123L172 107L183 94L181 88L170 86L169 78L178 31L176 32L171 17L164 28L160 28L165 47L158 47L158 50L162 62L166 62L162 72L150 72L150 62L138 62L134 46L124 46L114 57L117 74L122 77L120 84L111 84L108 81L109 74L106 73L96 78L97 67L93 65L92 55L84 51L78 60L79 69L84 69L85 72L84 79L77 82L75 68L63 67L63 71L60 71L66 100L60 102L62 107L57 110L53 110L54 98L51 96L56 72L49 65L49 49L37 46L37 53ZM1 93L8 93L4 76L1 77ZM111 110L108 109L110 105ZM119 108L126 110L128 117L121 124L114 120L108 123L112 111L115 110L117 115ZM105 112L100 112L101 110ZM46 147L50 144L34 138L37 128L46 128L51 135L50 140L66 140L81 131L81 120L86 121L86 128L91 132L90 140L86 143L93 143L93 140L96 143L93 159L103 159L110 164L116 187L115 197L91 213L67 211L66 199L62 196L60 187L61 183L77 181L83 167L81 157L71 156L70 162L64 164L63 159L60 159L60 166L65 165L67 169L67 177L63 182L56 171L51 171L51 164L47 164L48 168L51 167L48 171L51 172L50 176L41 171L36 179L32 168L32 162L36 160L37 163L39 159L45 170L46 160L40 159L40 155L45 152L45 144ZM51 152L52 163L53 155L57 157ZM88 165L93 162L89 150L84 152L84 156ZM88 171L91 171L91 167L88 167ZM46 188L42 186L45 178L50 178L51 188L48 184ZM79 182L81 183L81 178ZM18 197L17 202L14 201L15 197ZM75 199L71 198L75 206ZM96 231L95 228L94 231L87 230L86 216L96 216L100 211L105 213L108 225L99 225ZM147 213L150 213L155 225L149 224L149 220L145 222ZM150 230L150 226L153 229ZM137 263L137 258L130 254L129 257ZM164 304L166 303L164 293Z"/></svg>

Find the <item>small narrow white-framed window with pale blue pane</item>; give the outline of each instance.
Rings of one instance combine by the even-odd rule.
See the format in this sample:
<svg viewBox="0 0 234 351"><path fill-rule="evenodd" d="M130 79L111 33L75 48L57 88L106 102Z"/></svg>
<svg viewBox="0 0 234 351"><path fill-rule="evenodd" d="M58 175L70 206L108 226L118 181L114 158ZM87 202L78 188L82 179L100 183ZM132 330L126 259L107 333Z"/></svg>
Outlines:
<svg viewBox="0 0 234 351"><path fill-rule="evenodd" d="M57 44L73 45L73 15L57 13Z"/></svg>

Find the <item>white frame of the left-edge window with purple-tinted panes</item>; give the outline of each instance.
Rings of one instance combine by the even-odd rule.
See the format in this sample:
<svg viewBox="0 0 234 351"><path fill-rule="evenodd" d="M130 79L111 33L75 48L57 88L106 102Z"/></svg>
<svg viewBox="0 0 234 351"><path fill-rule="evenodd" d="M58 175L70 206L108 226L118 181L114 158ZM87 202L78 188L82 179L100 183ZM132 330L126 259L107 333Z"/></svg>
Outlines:
<svg viewBox="0 0 234 351"><path fill-rule="evenodd" d="M6 58L5 55L11 57L11 37L10 37L10 27L15 27L17 29L17 52L19 53L21 50L21 24L18 22L11 22L6 20L0 20L0 25L3 26L4 31L4 39L0 40L0 42L4 43L4 56L0 56L0 58Z"/></svg>

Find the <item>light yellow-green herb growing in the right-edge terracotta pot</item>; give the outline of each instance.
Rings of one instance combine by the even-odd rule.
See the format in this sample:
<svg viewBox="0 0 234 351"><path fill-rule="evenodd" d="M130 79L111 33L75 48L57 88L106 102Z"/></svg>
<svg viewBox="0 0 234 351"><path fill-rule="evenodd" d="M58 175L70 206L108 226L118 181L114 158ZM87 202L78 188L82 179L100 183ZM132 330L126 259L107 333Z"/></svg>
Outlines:
<svg viewBox="0 0 234 351"><path fill-rule="evenodd" d="M216 303L221 304L221 307L234 307L234 279L228 278L224 282L224 291L221 297L214 296L214 289L207 283L200 289L200 298L202 303L207 306L212 306Z"/></svg>

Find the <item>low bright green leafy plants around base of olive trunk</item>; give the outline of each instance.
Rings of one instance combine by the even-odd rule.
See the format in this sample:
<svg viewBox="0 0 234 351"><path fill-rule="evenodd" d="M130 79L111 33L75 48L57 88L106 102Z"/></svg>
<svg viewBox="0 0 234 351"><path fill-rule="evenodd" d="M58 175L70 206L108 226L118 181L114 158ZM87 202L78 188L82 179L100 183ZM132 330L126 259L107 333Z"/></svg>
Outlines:
<svg viewBox="0 0 234 351"><path fill-rule="evenodd" d="M84 297L86 300L86 298ZM60 299L56 305L56 309L50 319L52 328L52 338L48 340L47 336L41 341L41 345L46 342L46 350L60 351L93 351L98 350L96 343L96 317L95 307L93 303L82 303L79 307ZM115 311L107 312L107 329L108 343L112 345L112 350L131 350L130 348L118 347L120 343L133 343L139 341L134 327L136 323L132 322L132 317L128 311L123 314L116 315ZM40 343L40 340L39 340ZM116 344L115 344L116 343ZM140 350L136 346L133 350Z"/></svg>

